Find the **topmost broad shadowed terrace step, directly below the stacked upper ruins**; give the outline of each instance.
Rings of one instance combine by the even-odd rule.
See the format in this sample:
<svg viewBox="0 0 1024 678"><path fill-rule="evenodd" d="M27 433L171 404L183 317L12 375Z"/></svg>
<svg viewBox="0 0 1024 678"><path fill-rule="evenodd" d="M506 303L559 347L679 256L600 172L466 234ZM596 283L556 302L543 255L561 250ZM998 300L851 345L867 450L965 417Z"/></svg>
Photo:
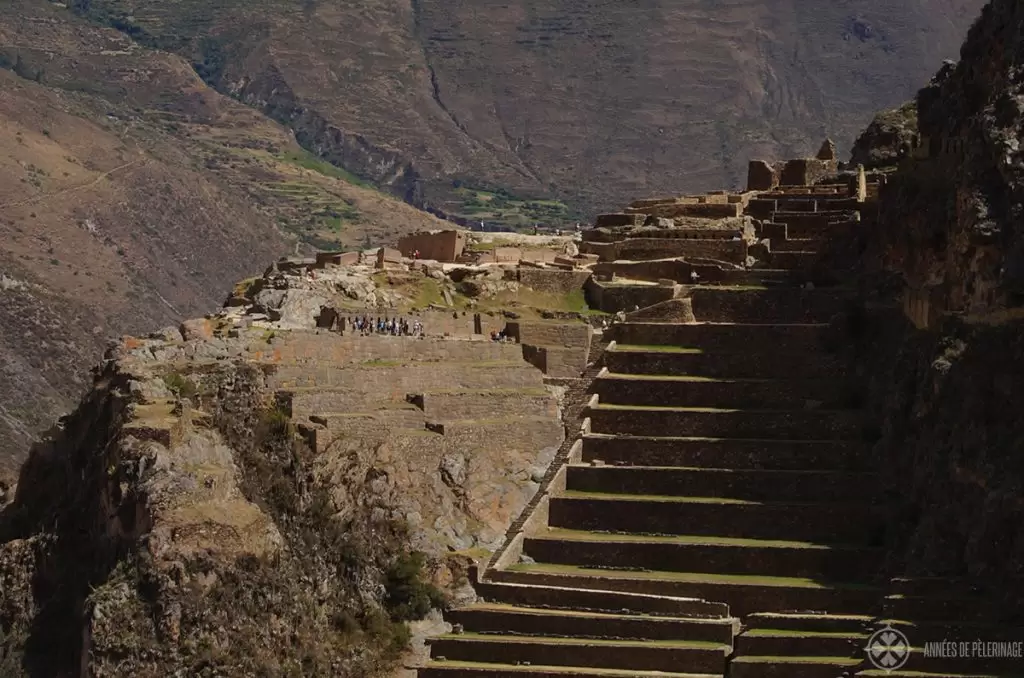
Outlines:
<svg viewBox="0 0 1024 678"><path fill-rule="evenodd" d="M844 290L800 288L689 290L693 315L710 323L828 323L851 308Z"/></svg>

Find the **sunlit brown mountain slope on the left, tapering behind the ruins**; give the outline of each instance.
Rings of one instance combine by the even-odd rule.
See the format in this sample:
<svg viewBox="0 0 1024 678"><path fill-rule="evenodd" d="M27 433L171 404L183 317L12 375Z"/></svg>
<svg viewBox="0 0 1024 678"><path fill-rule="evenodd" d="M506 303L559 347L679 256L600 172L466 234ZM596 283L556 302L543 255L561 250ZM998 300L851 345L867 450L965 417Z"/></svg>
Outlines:
<svg viewBox="0 0 1024 678"><path fill-rule="evenodd" d="M81 395L110 337L212 310L296 237L437 223L179 56L50 3L5 3L0 67L0 474Z"/></svg>

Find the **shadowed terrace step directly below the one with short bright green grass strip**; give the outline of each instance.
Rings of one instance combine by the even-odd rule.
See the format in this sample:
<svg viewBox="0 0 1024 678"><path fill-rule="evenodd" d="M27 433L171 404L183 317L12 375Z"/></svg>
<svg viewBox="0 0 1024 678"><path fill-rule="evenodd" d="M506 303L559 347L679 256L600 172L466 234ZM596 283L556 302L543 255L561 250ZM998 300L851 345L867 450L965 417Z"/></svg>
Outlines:
<svg viewBox="0 0 1024 678"><path fill-rule="evenodd" d="M607 373L593 384L602 405L638 407L845 409L859 404L852 384L834 379L714 379Z"/></svg>

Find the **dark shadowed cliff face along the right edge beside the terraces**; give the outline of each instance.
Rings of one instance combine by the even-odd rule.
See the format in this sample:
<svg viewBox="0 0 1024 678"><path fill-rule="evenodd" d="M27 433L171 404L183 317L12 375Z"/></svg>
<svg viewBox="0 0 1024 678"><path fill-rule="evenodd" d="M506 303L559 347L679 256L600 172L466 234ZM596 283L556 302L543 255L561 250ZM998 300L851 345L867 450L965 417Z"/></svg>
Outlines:
<svg viewBox="0 0 1024 678"><path fill-rule="evenodd" d="M902 505L893 574L965 577L991 594L993 620L1019 622L1024 6L991 2L962 56L920 92L922 147L890 175L867 235L867 291L895 302L880 282L895 276L908 312L868 313L860 367ZM887 139L872 126L857 146L885 149Z"/></svg>

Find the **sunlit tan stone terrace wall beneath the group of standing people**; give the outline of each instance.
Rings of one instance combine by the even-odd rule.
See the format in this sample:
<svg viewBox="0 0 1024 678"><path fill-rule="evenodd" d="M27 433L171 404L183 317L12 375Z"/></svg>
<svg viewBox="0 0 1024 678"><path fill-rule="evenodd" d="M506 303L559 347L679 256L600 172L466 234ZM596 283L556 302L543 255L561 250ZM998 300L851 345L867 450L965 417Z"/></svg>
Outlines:
<svg viewBox="0 0 1024 678"><path fill-rule="evenodd" d="M564 438L555 396L516 344L328 331L268 342L252 359L325 465L369 448L375 468L408 477L414 533L430 525L422 534L444 541L419 548L494 548Z"/></svg>

